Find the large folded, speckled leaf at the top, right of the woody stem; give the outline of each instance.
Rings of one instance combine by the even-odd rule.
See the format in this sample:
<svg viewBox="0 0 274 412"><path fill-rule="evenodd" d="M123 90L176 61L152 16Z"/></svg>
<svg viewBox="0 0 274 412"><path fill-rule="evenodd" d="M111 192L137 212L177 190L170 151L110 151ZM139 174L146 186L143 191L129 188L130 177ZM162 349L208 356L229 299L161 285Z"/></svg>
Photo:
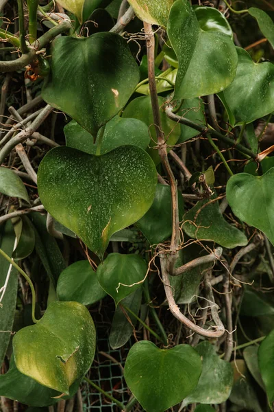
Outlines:
<svg viewBox="0 0 274 412"><path fill-rule="evenodd" d="M238 61L234 43L219 30L202 30L188 0L177 0L171 7L167 32L179 61L175 100L210 95L229 86Z"/></svg>

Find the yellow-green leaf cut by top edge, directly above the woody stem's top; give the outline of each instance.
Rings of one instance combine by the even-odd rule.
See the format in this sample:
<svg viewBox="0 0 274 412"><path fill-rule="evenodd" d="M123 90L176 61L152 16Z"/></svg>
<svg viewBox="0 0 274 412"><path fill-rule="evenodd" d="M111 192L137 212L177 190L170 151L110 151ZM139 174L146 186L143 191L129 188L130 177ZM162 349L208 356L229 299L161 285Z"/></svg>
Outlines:
<svg viewBox="0 0 274 412"><path fill-rule="evenodd" d="M169 19L169 10L174 0L129 0L136 16L142 21L150 24L163 25L166 27Z"/></svg>

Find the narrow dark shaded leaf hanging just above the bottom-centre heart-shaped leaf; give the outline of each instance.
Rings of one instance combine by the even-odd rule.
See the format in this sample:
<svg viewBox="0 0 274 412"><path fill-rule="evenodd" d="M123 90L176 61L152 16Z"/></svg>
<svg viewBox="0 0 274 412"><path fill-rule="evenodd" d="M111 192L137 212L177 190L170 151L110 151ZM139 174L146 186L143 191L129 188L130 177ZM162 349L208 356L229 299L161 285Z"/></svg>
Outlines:
<svg viewBox="0 0 274 412"><path fill-rule="evenodd" d="M140 304L142 300L142 288L135 290L134 293L128 295L121 301L121 304L125 305L127 308L132 310L137 316L140 310ZM114 317L112 319L112 325L110 328L109 342L112 349L119 349L129 341L132 336L133 328L137 323L136 317L131 313L127 313L129 319L125 316L125 312L122 310L121 306L118 306Z"/></svg>

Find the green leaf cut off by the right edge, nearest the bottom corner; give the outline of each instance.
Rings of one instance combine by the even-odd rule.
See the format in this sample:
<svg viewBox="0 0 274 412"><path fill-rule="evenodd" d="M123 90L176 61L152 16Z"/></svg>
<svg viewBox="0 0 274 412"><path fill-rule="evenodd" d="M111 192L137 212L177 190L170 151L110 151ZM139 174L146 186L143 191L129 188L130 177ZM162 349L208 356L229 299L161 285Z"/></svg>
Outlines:
<svg viewBox="0 0 274 412"><path fill-rule="evenodd" d="M258 350L258 362L269 403L274 402L274 330L262 341Z"/></svg>

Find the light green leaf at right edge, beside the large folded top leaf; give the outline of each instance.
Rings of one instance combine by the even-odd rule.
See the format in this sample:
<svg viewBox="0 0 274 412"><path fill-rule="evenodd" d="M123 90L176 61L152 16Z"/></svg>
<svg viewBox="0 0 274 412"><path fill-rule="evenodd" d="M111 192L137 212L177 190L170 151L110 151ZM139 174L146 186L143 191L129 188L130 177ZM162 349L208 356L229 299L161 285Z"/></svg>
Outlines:
<svg viewBox="0 0 274 412"><path fill-rule="evenodd" d="M274 111L274 65L254 63L249 53L239 47L237 52L236 77L219 98L225 99L223 103L233 113L235 124L251 123Z"/></svg>

